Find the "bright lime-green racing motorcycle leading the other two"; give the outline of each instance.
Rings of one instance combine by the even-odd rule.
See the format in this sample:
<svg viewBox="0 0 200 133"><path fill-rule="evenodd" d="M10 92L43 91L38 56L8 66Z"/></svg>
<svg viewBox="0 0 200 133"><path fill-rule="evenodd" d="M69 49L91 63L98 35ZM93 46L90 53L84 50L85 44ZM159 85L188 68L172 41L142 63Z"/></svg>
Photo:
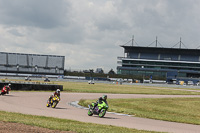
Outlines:
<svg viewBox="0 0 200 133"><path fill-rule="evenodd" d="M92 116L93 114L98 115L100 118L104 117L106 114L106 111L108 110L108 104L106 104L104 101L101 103L98 103L98 105L94 108L95 103L93 102L91 105L88 105L88 116Z"/></svg>

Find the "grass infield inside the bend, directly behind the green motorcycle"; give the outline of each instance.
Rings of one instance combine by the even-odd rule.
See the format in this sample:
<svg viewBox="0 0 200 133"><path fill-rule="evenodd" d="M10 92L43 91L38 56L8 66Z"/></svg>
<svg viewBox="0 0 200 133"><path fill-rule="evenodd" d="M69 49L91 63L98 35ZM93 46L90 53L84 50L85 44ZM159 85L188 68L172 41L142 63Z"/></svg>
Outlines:
<svg viewBox="0 0 200 133"><path fill-rule="evenodd" d="M87 106L95 100L81 100ZM111 112L200 125L200 98L108 99Z"/></svg>

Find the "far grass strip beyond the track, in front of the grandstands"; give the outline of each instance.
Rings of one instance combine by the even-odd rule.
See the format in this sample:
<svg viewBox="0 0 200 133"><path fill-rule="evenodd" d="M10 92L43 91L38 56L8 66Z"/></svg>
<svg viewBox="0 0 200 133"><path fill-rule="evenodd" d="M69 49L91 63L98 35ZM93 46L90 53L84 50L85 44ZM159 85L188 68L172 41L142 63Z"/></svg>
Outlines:
<svg viewBox="0 0 200 133"><path fill-rule="evenodd" d="M160 94L160 95L200 95L200 92L190 92L173 90L173 88L137 86L137 85L117 85L96 83L94 85L87 82L56 82L63 85L63 90L67 92L84 93L115 93L115 94Z"/></svg>

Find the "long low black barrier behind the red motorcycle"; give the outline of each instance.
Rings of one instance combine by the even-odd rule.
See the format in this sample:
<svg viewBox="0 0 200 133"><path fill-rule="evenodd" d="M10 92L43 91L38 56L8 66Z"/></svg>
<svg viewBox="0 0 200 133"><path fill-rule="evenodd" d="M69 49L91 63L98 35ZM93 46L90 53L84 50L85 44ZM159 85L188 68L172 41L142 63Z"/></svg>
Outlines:
<svg viewBox="0 0 200 133"><path fill-rule="evenodd" d="M9 83L0 83L0 88L4 85L8 85ZM54 84L34 84L34 83L10 83L11 90L44 90L44 91L55 91L56 89L60 89L63 91L62 85L54 85Z"/></svg>

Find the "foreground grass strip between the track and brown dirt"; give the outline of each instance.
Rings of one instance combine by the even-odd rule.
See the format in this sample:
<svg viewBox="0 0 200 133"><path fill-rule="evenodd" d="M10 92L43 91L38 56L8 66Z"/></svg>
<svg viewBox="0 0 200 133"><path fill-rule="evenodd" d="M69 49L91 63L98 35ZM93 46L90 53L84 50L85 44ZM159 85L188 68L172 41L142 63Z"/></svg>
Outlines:
<svg viewBox="0 0 200 133"><path fill-rule="evenodd" d="M25 115L5 111L0 111L0 116L0 121L22 123L52 130L74 131L77 133L156 133L152 131L135 130L111 125L84 123L74 120Z"/></svg>

